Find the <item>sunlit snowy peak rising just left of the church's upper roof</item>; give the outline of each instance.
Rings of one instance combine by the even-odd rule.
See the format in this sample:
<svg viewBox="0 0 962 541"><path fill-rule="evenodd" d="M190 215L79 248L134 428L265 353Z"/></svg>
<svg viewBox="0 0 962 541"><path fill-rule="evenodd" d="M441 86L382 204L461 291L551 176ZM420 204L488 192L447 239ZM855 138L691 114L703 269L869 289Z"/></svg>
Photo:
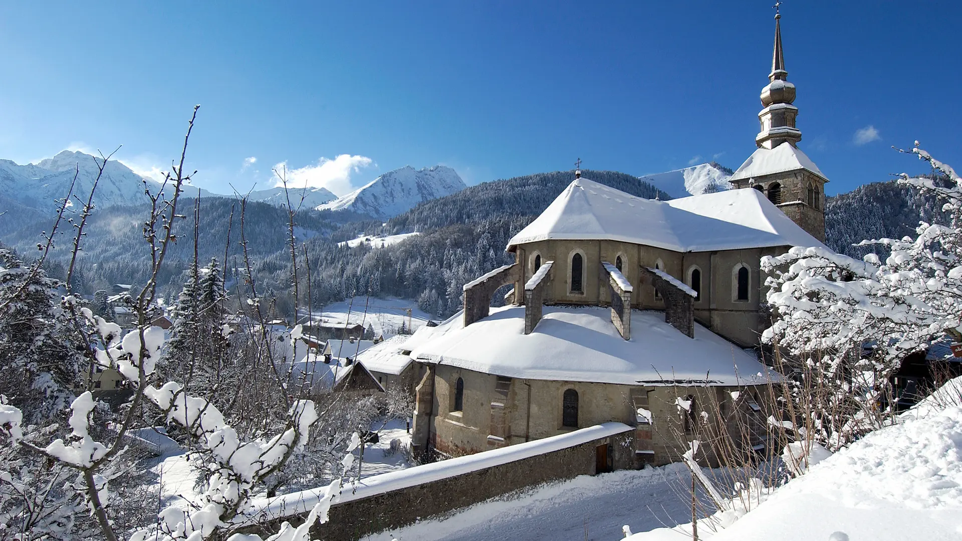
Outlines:
<svg viewBox="0 0 962 541"><path fill-rule="evenodd" d="M376 219L389 219L420 202L460 192L466 187L451 167L407 166L386 172L366 186L318 206L317 210L349 209Z"/></svg>

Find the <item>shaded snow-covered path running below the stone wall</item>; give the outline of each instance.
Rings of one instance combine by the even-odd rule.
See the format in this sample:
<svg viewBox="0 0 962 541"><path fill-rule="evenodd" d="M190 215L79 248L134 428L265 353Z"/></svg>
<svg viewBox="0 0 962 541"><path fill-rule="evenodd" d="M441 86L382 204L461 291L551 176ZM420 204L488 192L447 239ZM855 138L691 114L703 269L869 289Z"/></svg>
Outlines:
<svg viewBox="0 0 962 541"><path fill-rule="evenodd" d="M691 521L688 470L673 464L643 471L581 476L511 500L482 502L443 520L374 534L367 541L615 541L632 531ZM587 529L587 536L586 536Z"/></svg>

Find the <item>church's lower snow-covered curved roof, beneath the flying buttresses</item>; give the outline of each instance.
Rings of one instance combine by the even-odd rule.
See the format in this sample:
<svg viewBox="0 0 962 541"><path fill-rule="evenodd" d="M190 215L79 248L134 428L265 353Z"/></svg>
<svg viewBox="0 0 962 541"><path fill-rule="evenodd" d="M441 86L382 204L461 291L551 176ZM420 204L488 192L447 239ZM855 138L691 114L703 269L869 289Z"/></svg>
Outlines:
<svg viewBox="0 0 962 541"><path fill-rule="evenodd" d="M626 341L609 308L545 306L526 335L523 306L492 308L467 327L460 317L435 327L411 356L485 374L622 385L751 385L769 377L756 358L700 324L693 339L664 312L632 310L631 320Z"/></svg>

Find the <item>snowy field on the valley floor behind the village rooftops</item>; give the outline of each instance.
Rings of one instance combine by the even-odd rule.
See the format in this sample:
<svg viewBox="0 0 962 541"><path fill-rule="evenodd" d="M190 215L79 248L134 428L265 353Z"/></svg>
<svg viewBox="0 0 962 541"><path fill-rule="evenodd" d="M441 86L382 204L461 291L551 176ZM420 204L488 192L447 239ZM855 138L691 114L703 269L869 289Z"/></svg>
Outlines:
<svg viewBox="0 0 962 541"><path fill-rule="evenodd" d="M367 302L367 314L365 313L365 303ZM374 334L383 334L385 338L397 334L401 328L401 323L408 325L408 315L406 310L411 309L410 330L417 330L424 323L428 322L432 316L418 308L418 303L406 298L377 298L374 296L355 296L333 302L323 307L320 314L312 314L314 321L323 320L324 322L350 322L360 323L367 328L367 323L374 327ZM300 312L300 317L306 317L307 312Z"/></svg>

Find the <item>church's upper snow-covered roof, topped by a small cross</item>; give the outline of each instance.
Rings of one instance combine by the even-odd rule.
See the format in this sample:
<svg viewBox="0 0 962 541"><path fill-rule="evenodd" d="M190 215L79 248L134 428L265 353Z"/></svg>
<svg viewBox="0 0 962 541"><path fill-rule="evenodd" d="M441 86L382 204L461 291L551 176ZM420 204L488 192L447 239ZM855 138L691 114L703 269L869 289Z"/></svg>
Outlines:
<svg viewBox="0 0 962 541"><path fill-rule="evenodd" d="M757 190L656 201L586 178L571 182L508 242L612 240L673 251L823 246Z"/></svg>

